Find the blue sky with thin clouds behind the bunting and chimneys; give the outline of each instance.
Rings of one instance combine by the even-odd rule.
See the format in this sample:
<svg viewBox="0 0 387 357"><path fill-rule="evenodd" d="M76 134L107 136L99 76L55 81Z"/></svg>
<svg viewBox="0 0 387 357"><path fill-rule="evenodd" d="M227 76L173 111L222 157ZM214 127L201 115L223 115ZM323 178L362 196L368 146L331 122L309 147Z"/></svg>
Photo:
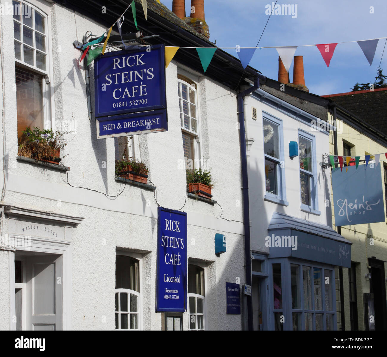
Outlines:
<svg viewBox="0 0 387 357"><path fill-rule="evenodd" d="M172 9L172 0L161 0ZM275 2L275 0L274 0ZM218 47L256 46L269 15L266 0L205 0L205 20L210 41ZM190 0L185 0L189 14ZM259 46L300 46L360 41L387 36L386 0L278 0L277 4L297 5L297 17L272 15ZM373 6L374 13L370 13ZM336 46L329 68L316 46L299 47L295 55L304 57L305 85L318 95L349 92L356 82L373 82L382 58L385 39L379 40L372 66L360 46ZM237 57L235 50L227 50ZM278 79L275 48L257 49L250 65L263 75ZM387 45L380 67L387 75ZM293 82L293 63L289 70Z"/></svg>

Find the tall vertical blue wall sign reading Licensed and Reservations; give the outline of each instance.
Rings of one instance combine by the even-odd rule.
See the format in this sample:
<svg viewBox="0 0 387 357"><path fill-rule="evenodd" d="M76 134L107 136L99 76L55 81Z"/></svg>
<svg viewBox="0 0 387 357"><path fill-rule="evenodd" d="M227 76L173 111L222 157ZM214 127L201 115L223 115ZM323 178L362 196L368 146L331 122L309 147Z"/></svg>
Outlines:
<svg viewBox="0 0 387 357"><path fill-rule="evenodd" d="M158 208L156 311L187 310L187 213Z"/></svg>

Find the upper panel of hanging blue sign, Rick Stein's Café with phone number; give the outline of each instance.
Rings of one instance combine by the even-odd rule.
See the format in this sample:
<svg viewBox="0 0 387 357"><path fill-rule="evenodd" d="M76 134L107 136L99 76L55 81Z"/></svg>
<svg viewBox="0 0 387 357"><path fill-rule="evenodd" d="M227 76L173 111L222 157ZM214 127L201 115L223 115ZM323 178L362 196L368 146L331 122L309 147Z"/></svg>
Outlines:
<svg viewBox="0 0 387 357"><path fill-rule="evenodd" d="M166 109L163 44L101 54L94 73L96 118Z"/></svg>

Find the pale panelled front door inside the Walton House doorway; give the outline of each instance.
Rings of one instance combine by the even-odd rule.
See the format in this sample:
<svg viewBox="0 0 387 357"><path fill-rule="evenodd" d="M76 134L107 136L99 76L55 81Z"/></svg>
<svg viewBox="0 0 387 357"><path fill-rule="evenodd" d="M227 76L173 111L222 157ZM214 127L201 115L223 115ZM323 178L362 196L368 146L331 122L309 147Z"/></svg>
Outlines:
<svg viewBox="0 0 387 357"><path fill-rule="evenodd" d="M26 329L62 330L62 255L31 255L26 263Z"/></svg>

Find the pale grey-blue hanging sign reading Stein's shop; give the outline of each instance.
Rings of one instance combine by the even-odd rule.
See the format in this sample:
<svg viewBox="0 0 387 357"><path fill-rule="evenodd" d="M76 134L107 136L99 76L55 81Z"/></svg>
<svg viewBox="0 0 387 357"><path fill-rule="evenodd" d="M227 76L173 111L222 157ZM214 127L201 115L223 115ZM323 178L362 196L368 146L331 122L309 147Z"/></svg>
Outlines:
<svg viewBox="0 0 387 357"><path fill-rule="evenodd" d="M380 166L349 166L332 170L335 225L384 222L384 198Z"/></svg>

